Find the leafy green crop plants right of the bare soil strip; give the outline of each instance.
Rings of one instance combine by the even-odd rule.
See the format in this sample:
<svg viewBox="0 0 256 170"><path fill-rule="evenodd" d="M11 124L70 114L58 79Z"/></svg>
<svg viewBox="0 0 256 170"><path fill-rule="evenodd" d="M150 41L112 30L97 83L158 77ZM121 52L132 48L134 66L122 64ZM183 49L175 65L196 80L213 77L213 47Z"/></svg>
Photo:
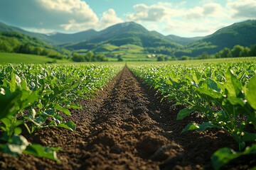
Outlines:
<svg viewBox="0 0 256 170"><path fill-rule="evenodd" d="M222 148L212 157L214 169L240 157L256 154L255 62L218 64L144 64L129 68L174 105L186 106L177 120L199 113L203 123L189 123L182 132L219 128L238 142L239 151ZM171 106L172 107L172 106ZM252 128L252 132L246 129Z"/></svg>

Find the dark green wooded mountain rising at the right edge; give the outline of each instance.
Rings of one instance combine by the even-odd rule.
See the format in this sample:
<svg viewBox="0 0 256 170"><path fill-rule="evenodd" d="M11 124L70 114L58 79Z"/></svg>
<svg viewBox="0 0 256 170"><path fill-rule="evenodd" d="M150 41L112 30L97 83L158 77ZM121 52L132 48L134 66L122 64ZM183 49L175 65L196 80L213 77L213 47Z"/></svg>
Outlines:
<svg viewBox="0 0 256 170"><path fill-rule="evenodd" d="M235 45L250 47L254 44L256 44L256 21L248 20L221 28L201 40L186 45L186 48L192 50L193 55L200 55L204 51L214 54L224 47L231 49Z"/></svg>

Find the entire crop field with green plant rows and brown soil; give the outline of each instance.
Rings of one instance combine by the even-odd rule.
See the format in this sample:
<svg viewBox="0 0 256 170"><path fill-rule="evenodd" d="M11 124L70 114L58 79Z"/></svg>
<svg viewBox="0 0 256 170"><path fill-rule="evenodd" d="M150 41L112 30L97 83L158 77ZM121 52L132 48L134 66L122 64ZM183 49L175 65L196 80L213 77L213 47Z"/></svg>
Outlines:
<svg viewBox="0 0 256 170"><path fill-rule="evenodd" d="M256 164L255 57L0 69L1 169Z"/></svg>

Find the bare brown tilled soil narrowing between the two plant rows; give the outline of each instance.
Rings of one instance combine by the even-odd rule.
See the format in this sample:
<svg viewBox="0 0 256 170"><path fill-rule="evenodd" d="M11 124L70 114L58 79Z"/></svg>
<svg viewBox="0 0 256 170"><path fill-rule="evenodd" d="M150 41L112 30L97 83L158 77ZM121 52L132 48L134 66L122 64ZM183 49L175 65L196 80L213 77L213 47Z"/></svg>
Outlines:
<svg viewBox="0 0 256 170"><path fill-rule="evenodd" d="M77 130L43 128L29 142L61 147L58 158L0 153L0 169L213 169L210 156L221 147L238 150L237 143L222 130L181 130L190 122L201 122L196 113L176 120L183 106L171 108L161 102L138 77L124 67L95 98L79 101L85 109L70 109ZM249 169L255 157L242 157L223 169Z"/></svg>

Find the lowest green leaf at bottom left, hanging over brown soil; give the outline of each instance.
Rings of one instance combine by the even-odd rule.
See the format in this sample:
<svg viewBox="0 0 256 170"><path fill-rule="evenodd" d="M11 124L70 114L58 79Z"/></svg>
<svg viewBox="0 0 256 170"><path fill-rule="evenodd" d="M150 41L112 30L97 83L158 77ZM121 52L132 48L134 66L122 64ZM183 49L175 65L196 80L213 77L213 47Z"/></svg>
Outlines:
<svg viewBox="0 0 256 170"><path fill-rule="evenodd" d="M52 159L58 164L60 164L60 160L57 157L56 150L58 149L52 149L48 147L43 147L41 145L28 145L26 149L23 151L24 154L31 154L36 157L44 157L47 159Z"/></svg>

